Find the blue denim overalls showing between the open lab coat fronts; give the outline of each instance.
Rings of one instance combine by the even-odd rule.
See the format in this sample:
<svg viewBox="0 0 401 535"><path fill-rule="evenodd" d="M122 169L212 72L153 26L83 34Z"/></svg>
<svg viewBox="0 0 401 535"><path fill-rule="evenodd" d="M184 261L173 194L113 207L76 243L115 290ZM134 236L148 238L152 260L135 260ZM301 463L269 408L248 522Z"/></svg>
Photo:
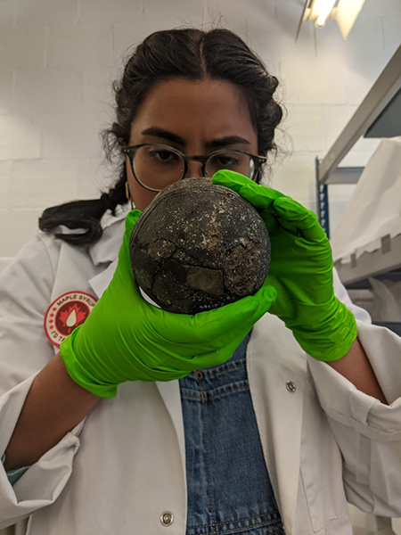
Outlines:
<svg viewBox="0 0 401 535"><path fill-rule="evenodd" d="M250 333L220 366L179 380L184 416L186 535L283 534L250 398Z"/></svg>

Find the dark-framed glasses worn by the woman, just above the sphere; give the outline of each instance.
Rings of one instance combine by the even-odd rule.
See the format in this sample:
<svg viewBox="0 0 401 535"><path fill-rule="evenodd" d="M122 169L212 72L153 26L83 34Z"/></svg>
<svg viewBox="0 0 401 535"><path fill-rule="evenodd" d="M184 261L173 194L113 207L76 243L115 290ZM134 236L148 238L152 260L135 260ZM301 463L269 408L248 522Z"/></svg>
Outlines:
<svg viewBox="0 0 401 535"><path fill-rule="evenodd" d="M165 144L137 144L122 146L127 154L135 180L152 192L160 192L167 185L181 180L188 171L188 161L201 163L201 176L213 177L217 171L228 169L256 180L266 157L250 152L221 149L206 156L186 156Z"/></svg>

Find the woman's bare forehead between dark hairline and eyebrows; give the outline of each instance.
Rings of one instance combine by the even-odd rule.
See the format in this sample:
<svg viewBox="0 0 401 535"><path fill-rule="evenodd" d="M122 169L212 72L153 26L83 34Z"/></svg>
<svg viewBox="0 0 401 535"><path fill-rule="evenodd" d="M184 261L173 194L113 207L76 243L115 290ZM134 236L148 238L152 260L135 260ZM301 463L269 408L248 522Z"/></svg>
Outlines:
<svg viewBox="0 0 401 535"><path fill-rule="evenodd" d="M234 133L251 142L256 137L240 89L220 80L173 78L152 87L132 122L131 135L155 126L185 139L196 135L206 141Z"/></svg>

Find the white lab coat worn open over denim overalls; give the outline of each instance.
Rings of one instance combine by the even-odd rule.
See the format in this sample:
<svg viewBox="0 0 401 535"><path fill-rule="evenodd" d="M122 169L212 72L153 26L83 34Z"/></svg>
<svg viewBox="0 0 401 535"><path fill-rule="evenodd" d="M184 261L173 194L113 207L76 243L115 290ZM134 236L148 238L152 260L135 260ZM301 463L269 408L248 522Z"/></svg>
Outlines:
<svg viewBox="0 0 401 535"><path fill-rule="evenodd" d="M103 218L102 240L89 248L39 233L1 277L0 455L35 376L58 351L45 336L46 309L65 292L102 295L117 264L124 218ZM351 535L347 501L368 513L401 516L401 338L371 325L335 269L334 283L356 316L390 405L308 356L279 318L267 313L254 326L250 394L291 535ZM168 527L160 521L165 512L174 515ZM115 398L102 399L13 487L0 466L0 528L29 514L29 535L184 535L178 381L119 385Z"/></svg>

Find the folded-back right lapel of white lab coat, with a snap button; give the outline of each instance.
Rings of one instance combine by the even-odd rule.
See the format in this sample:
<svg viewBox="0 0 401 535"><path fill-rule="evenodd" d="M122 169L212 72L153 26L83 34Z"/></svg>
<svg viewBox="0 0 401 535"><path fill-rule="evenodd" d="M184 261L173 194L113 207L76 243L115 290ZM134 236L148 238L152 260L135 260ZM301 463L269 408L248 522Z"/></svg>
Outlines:
<svg viewBox="0 0 401 535"><path fill-rule="evenodd" d="M292 533L299 488L307 355L282 321L266 314L254 325L247 367L267 471L282 522ZM294 385L296 390L291 391Z"/></svg>

